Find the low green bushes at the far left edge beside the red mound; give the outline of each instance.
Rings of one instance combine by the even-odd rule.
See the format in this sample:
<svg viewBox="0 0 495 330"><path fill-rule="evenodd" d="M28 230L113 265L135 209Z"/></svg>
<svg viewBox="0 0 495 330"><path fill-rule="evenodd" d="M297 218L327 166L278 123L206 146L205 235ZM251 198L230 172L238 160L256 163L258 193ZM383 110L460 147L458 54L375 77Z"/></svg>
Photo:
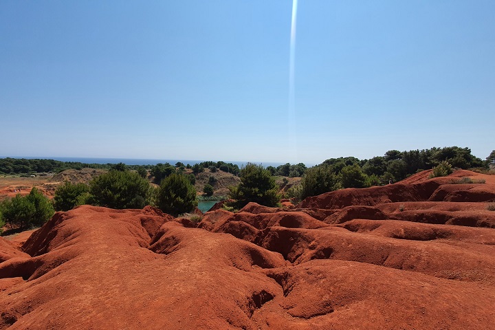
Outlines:
<svg viewBox="0 0 495 330"><path fill-rule="evenodd" d="M17 195L0 203L0 221L20 229L43 225L54 214L50 199L32 188L29 195Z"/></svg>

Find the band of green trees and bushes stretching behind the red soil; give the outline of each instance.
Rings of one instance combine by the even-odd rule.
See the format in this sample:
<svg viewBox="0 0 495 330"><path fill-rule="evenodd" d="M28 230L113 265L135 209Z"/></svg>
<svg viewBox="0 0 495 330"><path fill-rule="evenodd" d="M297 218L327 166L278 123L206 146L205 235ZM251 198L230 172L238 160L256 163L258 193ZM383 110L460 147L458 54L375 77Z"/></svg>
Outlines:
<svg viewBox="0 0 495 330"><path fill-rule="evenodd" d="M29 159L36 160L36 159ZM45 159L50 160L50 159ZM433 168L432 176L452 173L452 168L488 168L495 162L495 151L485 161L471 154L470 148L457 146L416 151L387 151L384 156L360 160L356 157L331 158L311 168L302 163L289 163L277 168L248 163L239 169L241 182L230 187L230 203L226 208L239 210L250 201L265 206L278 206L281 195L274 175L302 176L300 185L287 191L287 197L304 199L340 188L365 188L391 181L399 181L421 170ZM47 162L50 164L50 162ZM184 164L168 163L151 167L151 175L159 186L151 185L147 171L138 166L129 170L125 164L111 164L108 173L92 179L89 184L65 184L56 189L53 202L33 188L29 195L17 195L0 203L0 227L7 222L19 228L40 225L50 219L55 210L70 210L78 205L91 204L108 208L144 208L156 206L177 217L197 206L193 186L195 176L184 173ZM239 166L224 162L195 164L210 171L236 171ZM193 166L190 166L193 168ZM222 169L223 168L223 169ZM194 170L193 170L194 172ZM287 175L288 174L288 175Z"/></svg>

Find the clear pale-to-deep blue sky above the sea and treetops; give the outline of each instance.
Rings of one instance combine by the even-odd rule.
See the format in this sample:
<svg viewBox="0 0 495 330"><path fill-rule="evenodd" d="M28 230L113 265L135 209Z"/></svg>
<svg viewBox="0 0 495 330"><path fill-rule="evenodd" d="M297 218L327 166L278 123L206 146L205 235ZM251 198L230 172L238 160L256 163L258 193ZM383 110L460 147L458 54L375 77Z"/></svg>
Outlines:
<svg viewBox="0 0 495 330"><path fill-rule="evenodd" d="M0 155L495 149L495 1L0 1Z"/></svg>

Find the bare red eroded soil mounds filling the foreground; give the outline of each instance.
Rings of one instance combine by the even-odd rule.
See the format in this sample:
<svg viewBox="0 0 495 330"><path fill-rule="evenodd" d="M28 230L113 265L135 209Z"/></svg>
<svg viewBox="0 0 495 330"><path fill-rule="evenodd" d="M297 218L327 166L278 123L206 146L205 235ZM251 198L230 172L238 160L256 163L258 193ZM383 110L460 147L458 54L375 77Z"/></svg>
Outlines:
<svg viewBox="0 0 495 330"><path fill-rule="evenodd" d="M495 329L495 177L428 174L199 228L58 212L0 238L0 329Z"/></svg>

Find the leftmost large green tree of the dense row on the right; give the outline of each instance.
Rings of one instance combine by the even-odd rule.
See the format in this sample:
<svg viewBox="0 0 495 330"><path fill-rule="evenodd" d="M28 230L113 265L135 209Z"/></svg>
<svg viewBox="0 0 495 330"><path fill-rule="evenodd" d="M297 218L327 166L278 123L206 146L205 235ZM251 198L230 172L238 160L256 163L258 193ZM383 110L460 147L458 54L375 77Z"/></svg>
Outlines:
<svg viewBox="0 0 495 330"><path fill-rule="evenodd" d="M338 177L331 170L331 166L321 164L308 168L303 179L301 179L300 199L309 196L321 195L325 192L339 188Z"/></svg>

